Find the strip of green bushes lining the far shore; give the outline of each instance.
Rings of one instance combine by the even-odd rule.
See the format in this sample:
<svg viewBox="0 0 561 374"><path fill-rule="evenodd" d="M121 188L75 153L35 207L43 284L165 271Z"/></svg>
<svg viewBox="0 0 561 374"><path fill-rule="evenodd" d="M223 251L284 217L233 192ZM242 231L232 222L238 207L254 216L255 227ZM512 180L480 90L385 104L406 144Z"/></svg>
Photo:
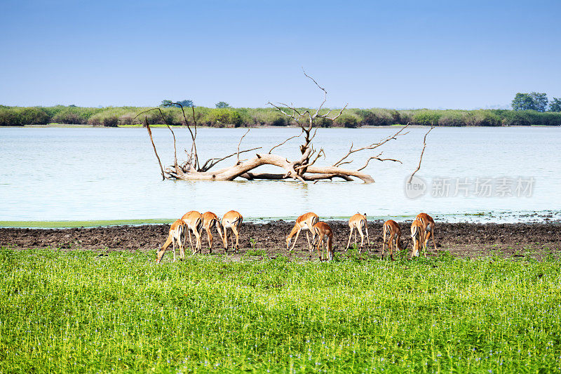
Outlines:
<svg viewBox="0 0 561 374"><path fill-rule="evenodd" d="M147 107L7 107L0 105L0 126L46 125L48 123L87 124L90 126L117 127L142 125L144 116L150 124L164 124L158 111L135 116ZM181 109L161 108L170 125L184 123ZM186 108L189 109L189 108ZM302 110L305 110L302 108ZM193 124L191 110L186 110L187 121ZM294 121L274 108L207 108L196 107L197 124L210 127L290 126ZM319 119L320 127L358 128L361 126L391 125L435 126L561 126L561 112L535 110L478 109L345 109L342 116L332 121Z"/></svg>

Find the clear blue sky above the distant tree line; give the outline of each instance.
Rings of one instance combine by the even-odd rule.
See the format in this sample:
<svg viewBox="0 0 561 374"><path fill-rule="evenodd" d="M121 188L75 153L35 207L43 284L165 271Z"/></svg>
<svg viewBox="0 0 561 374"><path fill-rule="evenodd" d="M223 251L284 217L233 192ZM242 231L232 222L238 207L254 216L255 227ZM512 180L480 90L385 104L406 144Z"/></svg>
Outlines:
<svg viewBox="0 0 561 374"><path fill-rule="evenodd" d="M0 104L506 107L561 97L561 1L0 0Z"/></svg>

